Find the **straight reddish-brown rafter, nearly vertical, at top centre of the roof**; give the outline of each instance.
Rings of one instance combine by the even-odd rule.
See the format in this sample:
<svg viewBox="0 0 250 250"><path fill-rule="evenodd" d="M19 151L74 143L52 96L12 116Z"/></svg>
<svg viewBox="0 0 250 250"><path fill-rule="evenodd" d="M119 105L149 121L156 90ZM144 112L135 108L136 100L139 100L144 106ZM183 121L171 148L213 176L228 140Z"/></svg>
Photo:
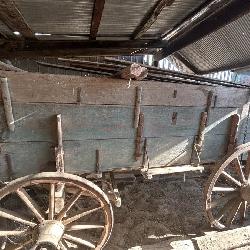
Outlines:
<svg viewBox="0 0 250 250"><path fill-rule="evenodd" d="M95 40L98 29L102 19L102 12L104 9L105 0L95 0L94 8L93 8L93 15L91 21L91 28L90 28L90 36L91 40Z"/></svg>

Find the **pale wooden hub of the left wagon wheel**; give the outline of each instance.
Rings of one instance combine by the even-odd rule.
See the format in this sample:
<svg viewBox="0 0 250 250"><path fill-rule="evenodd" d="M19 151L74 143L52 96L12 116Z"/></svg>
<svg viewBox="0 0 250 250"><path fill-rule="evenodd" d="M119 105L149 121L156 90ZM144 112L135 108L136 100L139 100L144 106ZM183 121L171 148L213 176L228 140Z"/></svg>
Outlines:
<svg viewBox="0 0 250 250"><path fill-rule="evenodd" d="M39 225L36 236L36 250L58 249L58 244L64 234L64 225L56 220L45 220Z"/></svg>

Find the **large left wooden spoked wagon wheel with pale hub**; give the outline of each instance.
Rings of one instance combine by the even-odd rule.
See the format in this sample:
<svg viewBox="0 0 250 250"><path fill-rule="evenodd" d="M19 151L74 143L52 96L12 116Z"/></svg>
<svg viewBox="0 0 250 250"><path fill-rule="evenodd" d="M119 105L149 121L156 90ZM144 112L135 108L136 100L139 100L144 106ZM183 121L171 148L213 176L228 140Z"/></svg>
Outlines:
<svg viewBox="0 0 250 250"><path fill-rule="evenodd" d="M79 176L40 173L0 190L1 249L102 249L112 227L107 196Z"/></svg>

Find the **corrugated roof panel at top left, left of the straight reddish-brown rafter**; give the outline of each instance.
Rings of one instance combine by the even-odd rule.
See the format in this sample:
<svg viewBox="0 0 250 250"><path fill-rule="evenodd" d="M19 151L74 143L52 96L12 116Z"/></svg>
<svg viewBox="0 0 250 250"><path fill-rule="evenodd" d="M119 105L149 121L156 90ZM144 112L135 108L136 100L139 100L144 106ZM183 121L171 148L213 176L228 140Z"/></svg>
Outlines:
<svg viewBox="0 0 250 250"><path fill-rule="evenodd" d="M15 0L15 3L34 32L89 34L93 0Z"/></svg>

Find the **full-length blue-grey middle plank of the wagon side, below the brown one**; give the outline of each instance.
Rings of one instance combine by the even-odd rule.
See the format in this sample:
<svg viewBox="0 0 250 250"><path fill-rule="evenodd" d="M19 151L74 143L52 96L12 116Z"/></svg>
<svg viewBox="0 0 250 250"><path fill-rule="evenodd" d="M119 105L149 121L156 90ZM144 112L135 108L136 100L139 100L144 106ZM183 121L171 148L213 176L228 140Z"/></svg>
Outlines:
<svg viewBox="0 0 250 250"><path fill-rule="evenodd" d="M198 133L203 108L144 106L145 137L183 137ZM205 134L227 134L235 108L215 108ZM9 133L0 120L0 141L56 142L56 114L62 114L64 140L135 138L132 106L14 104L15 133ZM173 123L173 114L176 114ZM0 117L4 117L0 105Z"/></svg>

